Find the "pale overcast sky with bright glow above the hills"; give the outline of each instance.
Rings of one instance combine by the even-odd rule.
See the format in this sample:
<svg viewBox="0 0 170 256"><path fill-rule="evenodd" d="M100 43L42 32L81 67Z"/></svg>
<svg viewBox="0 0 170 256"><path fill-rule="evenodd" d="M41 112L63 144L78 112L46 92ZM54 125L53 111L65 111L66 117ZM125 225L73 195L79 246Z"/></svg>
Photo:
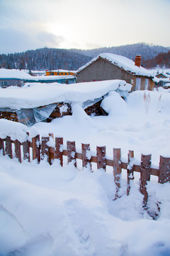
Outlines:
<svg viewBox="0 0 170 256"><path fill-rule="evenodd" d="M170 0L0 0L0 53L170 46Z"/></svg>

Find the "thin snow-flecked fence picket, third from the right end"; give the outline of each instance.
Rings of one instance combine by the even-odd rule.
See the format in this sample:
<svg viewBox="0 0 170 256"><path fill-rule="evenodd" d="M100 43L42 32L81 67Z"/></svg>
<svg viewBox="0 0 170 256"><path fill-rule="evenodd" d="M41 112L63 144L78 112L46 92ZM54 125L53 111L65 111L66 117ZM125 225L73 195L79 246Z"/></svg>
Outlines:
<svg viewBox="0 0 170 256"><path fill-rule="evenodd" d="M129 154L128 154L128 168L127 168L127 195L129 195L130 193L130 180L134 179L133 176L133 163L132 163L132 159L134 159L134 152L129 150Z"/></svg>

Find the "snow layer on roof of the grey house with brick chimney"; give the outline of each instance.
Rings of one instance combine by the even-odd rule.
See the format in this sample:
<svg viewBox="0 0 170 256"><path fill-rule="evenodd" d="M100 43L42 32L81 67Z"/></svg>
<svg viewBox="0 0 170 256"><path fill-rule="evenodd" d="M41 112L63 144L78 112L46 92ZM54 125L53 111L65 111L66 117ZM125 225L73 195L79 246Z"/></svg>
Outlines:
<svg viewBox="0 0 170 256"><path fill-rule="evenodd" d="M142 68L141 66L138 67L135 65L135 62L130 60L129 58L126 58L122 55L117 55L113 53L101 53L96 58L93 58L89 63L86 63L81 68L77 70L77 73L79 73L81 70L84 70L84 68L91 65L91 63L94 63L98 58L103 58L104 60L109 61L113 65L117 65L118 67L122 68L123 70L128 71L129 73L132 73L134 75L143 75L147 77L154 77L154 74L145 68ZM76 73L76 75L77 75Z"/></svg>

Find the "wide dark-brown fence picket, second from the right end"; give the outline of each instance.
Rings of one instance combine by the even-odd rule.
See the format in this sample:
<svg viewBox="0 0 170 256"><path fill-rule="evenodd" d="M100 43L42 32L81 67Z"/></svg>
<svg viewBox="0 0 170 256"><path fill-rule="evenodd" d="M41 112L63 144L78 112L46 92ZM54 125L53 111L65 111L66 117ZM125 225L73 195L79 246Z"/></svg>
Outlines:
<svg viewBox="0 0 170 256"><path fill-rule="evenodd" d="M151 175L151 154L141 156L141 168L140 168L140 192L144 195L143 206L147 208L147 181L150 180Z"/></svg>

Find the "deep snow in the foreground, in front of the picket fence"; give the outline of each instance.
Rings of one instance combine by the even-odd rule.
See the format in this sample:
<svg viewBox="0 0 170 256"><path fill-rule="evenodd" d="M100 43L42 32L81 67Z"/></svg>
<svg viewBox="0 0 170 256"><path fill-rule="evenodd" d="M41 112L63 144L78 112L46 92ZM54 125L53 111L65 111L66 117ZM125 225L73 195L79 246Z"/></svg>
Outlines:
<svg viewBox="0 0 170 256"><path fill-rule="evenodd" d="M169 183L149 183L149 210L162 202L158 220L142 209L138 178L130 196L122 186L113 201L113 174L1 156L1 255L169 255Z"/></svg>

